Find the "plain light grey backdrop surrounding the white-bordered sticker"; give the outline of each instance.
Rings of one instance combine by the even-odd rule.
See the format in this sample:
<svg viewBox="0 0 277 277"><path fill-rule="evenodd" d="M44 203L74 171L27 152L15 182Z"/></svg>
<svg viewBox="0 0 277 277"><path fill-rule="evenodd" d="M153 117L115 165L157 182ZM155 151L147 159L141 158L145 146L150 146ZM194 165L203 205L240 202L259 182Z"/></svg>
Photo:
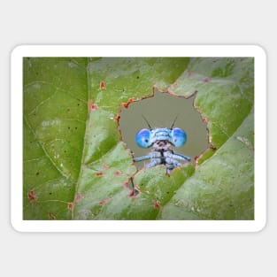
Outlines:
<svg viewBox="0 0 277 277"><path fill-rule="evenodd" d="M1 272L6 276L274 276L273 1L2 1ZM23 234L10 224L10 53L19 44L258 44L267 53L267 225L253 234ZM276 73L275 73L276 74ZM274 93L275 91L275 93ZM275 114L273 114L273 112Z"/></svg>

